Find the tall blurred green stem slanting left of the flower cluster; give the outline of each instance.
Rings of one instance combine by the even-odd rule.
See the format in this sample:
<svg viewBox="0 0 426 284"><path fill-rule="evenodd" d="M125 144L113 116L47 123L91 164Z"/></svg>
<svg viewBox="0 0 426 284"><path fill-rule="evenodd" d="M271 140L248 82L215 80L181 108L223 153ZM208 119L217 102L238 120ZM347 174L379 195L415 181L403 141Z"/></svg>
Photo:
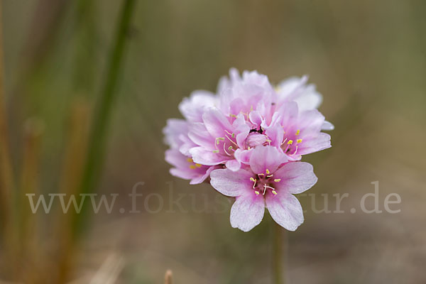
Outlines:
<svg viewBox="0 0 426 284"><path fill-rule="evenodd" d="M107 75L104 78L104 87L102 89L102 97L100 98L97 112L89 138L89 146L87 151L87 160L84 166L82 184L80 193L94 192L99 182L102 163L104 161L104 152L107 140L107 132L109 120L111 118L111 108L116 97L116 85L119 79L119 71L121 61L124 55L124 47L126 36L128 35L131 23L131 15L136 0L124 0L121 7L119 23L114 38L114 48L109 55L109 65L107 67ZM87 211L87 202L84 202L82 212L75 219L75 229L80 231Z"/></svg>

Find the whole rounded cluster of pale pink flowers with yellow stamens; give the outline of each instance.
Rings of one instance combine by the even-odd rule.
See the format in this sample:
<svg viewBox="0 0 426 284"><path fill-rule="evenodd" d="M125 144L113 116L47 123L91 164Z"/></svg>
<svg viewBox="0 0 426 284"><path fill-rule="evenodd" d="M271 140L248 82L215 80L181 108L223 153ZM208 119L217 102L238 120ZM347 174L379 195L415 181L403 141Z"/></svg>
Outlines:
<svg viewBox="0 0 426 284"><path fill-rule="evenodd" d="M258 72L229 71L217 94L195 91L179 105L185 119L169 119L163 130L170 149L170 173L209 181L215 190L236 197L231 226L249 231L265 208L285 229L303 222L293 194L317 182L303 155L331 147L323 130L334 126L317 110L322 96L307 77L292 77L273 86Z"/></svg>

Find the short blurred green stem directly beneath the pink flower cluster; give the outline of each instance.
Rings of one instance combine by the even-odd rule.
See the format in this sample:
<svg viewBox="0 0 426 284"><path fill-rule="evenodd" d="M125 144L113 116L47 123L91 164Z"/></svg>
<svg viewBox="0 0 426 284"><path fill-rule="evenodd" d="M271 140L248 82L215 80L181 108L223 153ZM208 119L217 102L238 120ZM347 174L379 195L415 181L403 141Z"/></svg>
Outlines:
<svg viewBox="0 0 426 284"><path fill-rule="evenodd" d="M273 222L273 278L275 284L285 284L287 264L287 231Z"/></svg>

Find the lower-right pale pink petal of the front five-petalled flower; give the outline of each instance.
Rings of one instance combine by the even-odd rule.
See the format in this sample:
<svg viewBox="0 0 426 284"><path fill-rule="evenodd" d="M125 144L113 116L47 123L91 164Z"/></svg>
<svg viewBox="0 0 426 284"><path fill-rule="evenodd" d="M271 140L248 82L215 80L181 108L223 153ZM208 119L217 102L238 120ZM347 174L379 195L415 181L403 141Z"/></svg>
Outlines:
<svg viewBox="0 0 426 284"><path fill-rule="evenodd" d="M266 207L272 219L289 231L295 231L303 223L303 210L299 200L287 192L266 195Z"/></svg>

